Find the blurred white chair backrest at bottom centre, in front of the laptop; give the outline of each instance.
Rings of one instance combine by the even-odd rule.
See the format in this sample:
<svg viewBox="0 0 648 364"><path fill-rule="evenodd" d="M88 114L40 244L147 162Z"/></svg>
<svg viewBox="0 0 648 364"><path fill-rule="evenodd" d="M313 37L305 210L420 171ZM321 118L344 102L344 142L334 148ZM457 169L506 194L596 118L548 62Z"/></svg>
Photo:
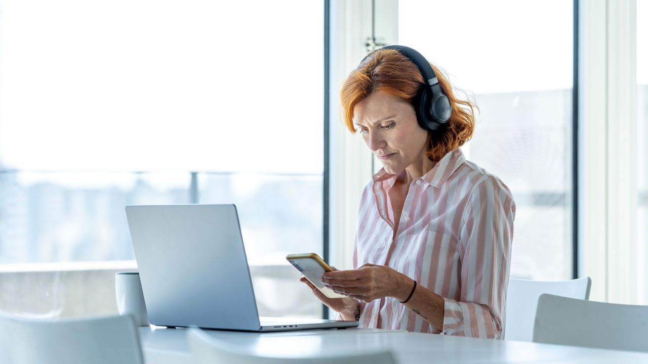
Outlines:
<svg viewBox="0 0 648 364"><path fill-rule="evenodd" d="M270 358L249 354L244 348L209 336L199 328L189 330L189 348L196 364L395 364L390 352L320 358Z"/></svg>

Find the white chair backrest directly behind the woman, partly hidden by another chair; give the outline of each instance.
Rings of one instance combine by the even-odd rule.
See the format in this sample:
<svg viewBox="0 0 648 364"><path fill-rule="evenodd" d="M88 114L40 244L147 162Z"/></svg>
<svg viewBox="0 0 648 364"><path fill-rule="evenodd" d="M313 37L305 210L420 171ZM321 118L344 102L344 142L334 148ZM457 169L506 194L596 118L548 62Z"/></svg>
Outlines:
<svg viewBox="0 0 648 364"><path fill-rule="evenodd" d="M506 319L504 339L531 341L533 320L542 293L589 299L592 279L583 277L572 280L526 280L509 279L506 294Z"/></svg>

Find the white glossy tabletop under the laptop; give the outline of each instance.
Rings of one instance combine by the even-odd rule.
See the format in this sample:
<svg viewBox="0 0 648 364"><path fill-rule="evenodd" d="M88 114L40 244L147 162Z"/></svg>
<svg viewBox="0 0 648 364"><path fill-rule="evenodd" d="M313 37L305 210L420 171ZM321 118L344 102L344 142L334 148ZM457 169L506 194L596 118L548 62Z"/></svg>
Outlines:
<svg viewBox="0 0 648 364"><path fill-rule="evenodd" d="M210 335L257 355L303 357L388 349L399 363L648 363L648 353L350 328ZM139 328L146 364L192 363L187 329Z"/></svg>

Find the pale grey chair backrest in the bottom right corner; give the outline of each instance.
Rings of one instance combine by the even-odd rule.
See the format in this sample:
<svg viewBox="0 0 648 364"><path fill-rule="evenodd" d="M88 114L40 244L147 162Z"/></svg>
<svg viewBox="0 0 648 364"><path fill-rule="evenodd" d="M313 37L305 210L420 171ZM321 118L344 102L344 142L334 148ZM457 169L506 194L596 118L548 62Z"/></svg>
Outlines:
<svg viewBox="0 0 648 364"><path fill-rule="evenodd" d="M648 306L541 295L533 341L648 352Z"/></svg>

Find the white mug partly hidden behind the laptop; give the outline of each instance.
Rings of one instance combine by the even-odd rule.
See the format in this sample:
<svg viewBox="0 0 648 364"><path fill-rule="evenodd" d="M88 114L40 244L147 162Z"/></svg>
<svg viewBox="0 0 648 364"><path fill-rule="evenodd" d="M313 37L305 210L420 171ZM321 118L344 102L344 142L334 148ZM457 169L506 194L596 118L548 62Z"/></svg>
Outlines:
<svg viewBox="0 0 648 364"><path fill-rule="evenodd" d="M148 326L148 313L137 272L115 273L115 295L120 315L132 315L137 326Z"/></svg>

